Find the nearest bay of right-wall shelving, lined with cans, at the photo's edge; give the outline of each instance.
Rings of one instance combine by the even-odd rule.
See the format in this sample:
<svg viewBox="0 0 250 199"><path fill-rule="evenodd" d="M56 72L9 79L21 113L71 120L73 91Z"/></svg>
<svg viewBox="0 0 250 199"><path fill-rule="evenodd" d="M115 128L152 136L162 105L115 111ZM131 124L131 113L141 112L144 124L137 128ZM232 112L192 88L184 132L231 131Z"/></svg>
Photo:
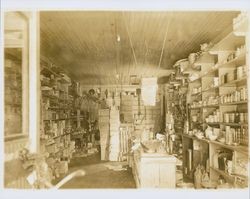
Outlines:
<svg viewBox="0 0 250 199"><path fill-rule="evenodd" d="M210 142L210 177L217 180L221 175L232 186L245 187L248 184L249 161L245 36L238 35L234 30L210 49L210 53L218 57L220 117L217 125L226 137L225 143ZM218 150L226 150L232 154L232 171L218 168L213 160Z"/></svg>

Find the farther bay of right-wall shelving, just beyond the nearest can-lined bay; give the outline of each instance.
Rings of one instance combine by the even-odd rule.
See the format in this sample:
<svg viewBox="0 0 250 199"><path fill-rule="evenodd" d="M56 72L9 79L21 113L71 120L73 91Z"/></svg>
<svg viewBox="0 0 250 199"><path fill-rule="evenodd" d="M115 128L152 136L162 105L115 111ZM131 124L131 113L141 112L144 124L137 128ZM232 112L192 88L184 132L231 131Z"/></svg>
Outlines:
<svg viewBox="0 0 250 199"><path fill-rule="evenodd" d="M214 87L214 77L216 72L208 71L215 63L215 56L209 52L203 52L199 58L192 64L199 76L189 82L188 86L188 104L189 104L189 130L196 129L204 131L207 124L205 118L211 114L216 105L212 103L216 97L216 88ZM196 139L196 137L183 134L183 154L184 178L194 179L194 172L198 165L202 165L208 170L209 143L205 140Z"/></svg>

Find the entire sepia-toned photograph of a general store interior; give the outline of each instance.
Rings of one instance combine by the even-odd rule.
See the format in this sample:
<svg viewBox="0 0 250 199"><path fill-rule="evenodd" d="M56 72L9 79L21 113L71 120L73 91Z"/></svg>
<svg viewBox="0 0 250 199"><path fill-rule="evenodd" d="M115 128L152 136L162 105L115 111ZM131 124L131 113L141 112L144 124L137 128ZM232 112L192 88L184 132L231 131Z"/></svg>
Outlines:
<svg viewBox="0 0 250 199"><path fill-rule="evenodd" d="M1 9L5 190L249 191L249 10L42 8Z"/></svg>

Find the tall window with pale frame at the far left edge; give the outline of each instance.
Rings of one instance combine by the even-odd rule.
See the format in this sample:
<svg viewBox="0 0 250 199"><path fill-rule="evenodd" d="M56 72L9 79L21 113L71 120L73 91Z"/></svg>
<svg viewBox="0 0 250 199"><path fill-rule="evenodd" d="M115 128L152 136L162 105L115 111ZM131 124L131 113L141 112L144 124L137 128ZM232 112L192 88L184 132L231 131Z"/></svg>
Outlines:
<svg viewBox="0 0 250 199"><path fill-rule="evenodd" d="M28 20L4 15L4 136L28 134Z"/></svg>

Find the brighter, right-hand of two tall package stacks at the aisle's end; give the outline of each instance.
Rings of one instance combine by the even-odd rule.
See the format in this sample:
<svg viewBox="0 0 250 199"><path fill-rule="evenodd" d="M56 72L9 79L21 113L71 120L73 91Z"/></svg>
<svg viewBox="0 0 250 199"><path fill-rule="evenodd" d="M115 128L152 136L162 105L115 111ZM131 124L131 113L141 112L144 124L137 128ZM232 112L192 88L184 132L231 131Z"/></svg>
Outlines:
<svg viewBox="0 0 250 199"><path fill-rule="evenodd" d="M109 160L119 161L120 155L120 111L116 106L112 106L110 110L110 145Z"/></svg>

